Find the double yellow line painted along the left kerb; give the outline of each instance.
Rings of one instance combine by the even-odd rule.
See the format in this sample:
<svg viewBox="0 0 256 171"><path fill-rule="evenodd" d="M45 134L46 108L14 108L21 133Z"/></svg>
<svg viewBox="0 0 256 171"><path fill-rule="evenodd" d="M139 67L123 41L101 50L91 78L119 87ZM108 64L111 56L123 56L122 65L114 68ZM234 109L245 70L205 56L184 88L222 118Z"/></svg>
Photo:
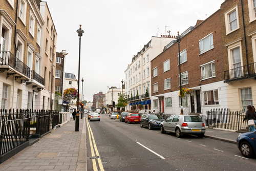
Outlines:
<svg viewBox="0 0 256 171"><path fill-rule="evenodd" d="M96 156L99 156L98 148L97 148L95 140L94 140L91 126L88 122L88 119L86 119L86 121L87 121L87 129L88 129L88 133L89 133L89 141L90 141L90 146L91 146L92 157L95 157L95 153L96 153ZM93 143L92 143L92 141L93 141ZM94 149L95 149L95 153L94 153ZM99 170L104 171L101 159L98 158L97 160L99 163ZM93 161L93 170L98 170L96 160L92 159L92 161Z"/></svg>

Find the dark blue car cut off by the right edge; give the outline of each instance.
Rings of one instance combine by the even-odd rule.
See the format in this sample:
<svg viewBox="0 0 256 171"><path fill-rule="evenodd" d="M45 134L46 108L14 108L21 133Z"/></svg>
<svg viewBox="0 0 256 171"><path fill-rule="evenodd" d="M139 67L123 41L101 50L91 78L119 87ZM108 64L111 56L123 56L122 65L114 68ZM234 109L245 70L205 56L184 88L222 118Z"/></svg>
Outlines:
<svg viewBox="0 0 256 171"><path fill-rule="evenodd" d="M237 144L244 157L253 157L256 154L256 131L239 134Z"/></svg>

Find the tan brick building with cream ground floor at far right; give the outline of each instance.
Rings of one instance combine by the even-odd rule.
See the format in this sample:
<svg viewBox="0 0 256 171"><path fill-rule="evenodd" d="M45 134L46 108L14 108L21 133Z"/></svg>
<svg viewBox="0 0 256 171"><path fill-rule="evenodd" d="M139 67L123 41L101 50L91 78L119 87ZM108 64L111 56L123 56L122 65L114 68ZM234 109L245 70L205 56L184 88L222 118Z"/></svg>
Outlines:
<svg viewBox="0 0 256 171"><path fill-rule="evenodd" d="M226 0L220 17L230 110L256 105L256 2Z"/></svg>

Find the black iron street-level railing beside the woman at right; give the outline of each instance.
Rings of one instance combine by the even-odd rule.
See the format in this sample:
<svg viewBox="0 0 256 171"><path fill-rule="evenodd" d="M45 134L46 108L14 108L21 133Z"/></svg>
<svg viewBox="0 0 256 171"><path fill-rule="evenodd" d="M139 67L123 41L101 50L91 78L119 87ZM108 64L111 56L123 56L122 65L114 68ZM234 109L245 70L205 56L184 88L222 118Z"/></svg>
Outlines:
<svg viewBox="0 0 256 171"><path fill-rule="evenodd" d="M241 131L247 126L247 123L243 122L245 111L232 112L229 109L213 109L207 111L206 115L206 126L236 131Z"/></svg>

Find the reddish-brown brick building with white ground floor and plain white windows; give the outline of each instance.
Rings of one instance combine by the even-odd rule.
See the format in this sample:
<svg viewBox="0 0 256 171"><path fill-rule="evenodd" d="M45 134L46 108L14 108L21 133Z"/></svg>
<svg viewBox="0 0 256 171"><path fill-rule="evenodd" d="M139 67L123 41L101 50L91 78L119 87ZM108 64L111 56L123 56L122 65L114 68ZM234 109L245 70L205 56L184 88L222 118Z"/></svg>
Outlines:
<svg viewBox="0 0 256 171"><path fill-rule="evenodd" d="M181 86L193 89L182 98L183 113L206 114L212 108L226 108L226 86L220 10L198 20L181 34ZM180 113L179 55L176 40L151 61L152 111Z"/></svg>

